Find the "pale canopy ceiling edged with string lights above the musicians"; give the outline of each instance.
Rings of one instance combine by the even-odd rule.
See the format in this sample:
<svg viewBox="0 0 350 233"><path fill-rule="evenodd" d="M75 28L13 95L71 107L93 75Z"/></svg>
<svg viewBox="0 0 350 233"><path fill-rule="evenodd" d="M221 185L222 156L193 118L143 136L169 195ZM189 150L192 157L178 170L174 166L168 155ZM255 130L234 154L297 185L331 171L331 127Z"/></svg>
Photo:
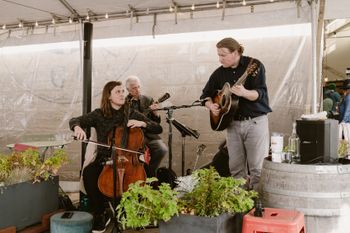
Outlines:
<svg viewBox="0 0 350 233"><path fill-rule="evenodd" d="M23 27L34 27L36 22L39 26L51 25L52 19L61 24L69 23L70 18L87 20L87 15L88 20L107 20L106 13L108 19L115 19L170 13L170 7L175 13L189 12L192 5L198 11L217 9L218 3L223 9L284 1L290 0L0 0L0 30L19 28L20 23Z"/></svg>

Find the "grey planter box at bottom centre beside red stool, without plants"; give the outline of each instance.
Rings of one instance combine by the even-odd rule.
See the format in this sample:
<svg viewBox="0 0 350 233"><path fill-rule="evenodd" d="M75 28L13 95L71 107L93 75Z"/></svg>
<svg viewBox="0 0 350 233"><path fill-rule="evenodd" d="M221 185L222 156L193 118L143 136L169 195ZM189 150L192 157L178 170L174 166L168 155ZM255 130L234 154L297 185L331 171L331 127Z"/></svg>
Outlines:
<svg viewBox="0 0 350 233"><path fill-rule="evenodd" d="M243 214L222 214L218 217L180 215L160 222L160 233L241 233Z"/></svg>

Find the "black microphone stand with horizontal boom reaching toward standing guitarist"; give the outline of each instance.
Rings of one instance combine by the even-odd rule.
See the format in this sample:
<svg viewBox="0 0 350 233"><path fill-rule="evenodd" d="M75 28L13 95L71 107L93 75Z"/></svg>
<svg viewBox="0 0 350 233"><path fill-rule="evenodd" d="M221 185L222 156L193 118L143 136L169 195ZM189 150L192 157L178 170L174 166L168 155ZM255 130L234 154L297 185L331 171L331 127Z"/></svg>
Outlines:
<svg viewBox="0 0 350 233"><path fill-rule="evenodd" d="M172 120L173 120L173 112L175 109L180 109L180 108L192 108L196 106L203 106L201 102L195 101L190 105L180 105L180 106L169 106L169 107L164 107L164 108L158 108L155 109L155 111L167 111L167 123L169 125L169 133L168 133L168 151L169 151L169 160L168 160L168 168L170 170L172 167L172 162L173 162L173 153L172 153L172 140L173 140L173 132L172 132Z"/></svg>

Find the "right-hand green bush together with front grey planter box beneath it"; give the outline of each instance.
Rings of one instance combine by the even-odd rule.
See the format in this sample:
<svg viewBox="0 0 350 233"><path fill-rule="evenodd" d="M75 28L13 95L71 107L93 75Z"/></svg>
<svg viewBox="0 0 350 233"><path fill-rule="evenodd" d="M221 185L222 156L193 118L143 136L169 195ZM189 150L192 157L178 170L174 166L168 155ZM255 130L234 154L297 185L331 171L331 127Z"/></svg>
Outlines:
<svg viewBox="0 0 350 233"><path fill-rule="evenodd" d="M241 232L243 214L257 193L242 188L244 179L221 177L211 167L194 173L192 190L179 198L181 215L160 224L160 232Z"/></svg>

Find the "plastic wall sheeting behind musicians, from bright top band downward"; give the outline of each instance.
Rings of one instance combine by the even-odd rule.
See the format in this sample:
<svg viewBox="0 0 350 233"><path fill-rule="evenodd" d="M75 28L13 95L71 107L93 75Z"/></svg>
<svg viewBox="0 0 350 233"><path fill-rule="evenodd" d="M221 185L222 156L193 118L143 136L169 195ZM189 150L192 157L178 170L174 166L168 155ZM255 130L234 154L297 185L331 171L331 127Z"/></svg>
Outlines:
<svg viewBox="0 0 350 233"><path fill-rule="evenodd" d="M266 30L273 32L274 29ZM259 29L250 29L250 34L241 31L222 31L219 35L206 32L202 40L191 39L193 35L187 34L180 35L187 40L166 42L160 37L159 43L157 40L147 43L145 38L133 38L132 42L132 38L129 42L115 39L112 44L96 40L93 107L99 106L101 89L106 82L124 81L132 74L142 80L144 93L154 98L170 93L166 105L191 104L199 98L208 77L219 66L215 44L227 34L245 46L244 54L265 64L273 109L269 115L270 130L288 134L292 121L310 109L310 24L283 26L278 30L286 33L256 38L254 32ZM240 38L240 35L245 36ZM48 47L43 50L44 46ZM28 48L31 51L27 51ZM81 114L79 42L24 46L20 50L4 46L0 60L2 149L8 143L20 142L23 137L32 135L69 135L68 120ZM167 142L165 112L162 115L162 136ZM208 145L209 149L200 163L210 161L224 134L210 129L208 111L202 107L179 109L174 111L173 117L200 133L199 139L186 138L187 167L193 166L197 145L201 143ZM173 167L180 170L181 135L173 130ZM79 148L79 143L68 146L75 161L71 166L75 168L80 165Z"/></svg>

